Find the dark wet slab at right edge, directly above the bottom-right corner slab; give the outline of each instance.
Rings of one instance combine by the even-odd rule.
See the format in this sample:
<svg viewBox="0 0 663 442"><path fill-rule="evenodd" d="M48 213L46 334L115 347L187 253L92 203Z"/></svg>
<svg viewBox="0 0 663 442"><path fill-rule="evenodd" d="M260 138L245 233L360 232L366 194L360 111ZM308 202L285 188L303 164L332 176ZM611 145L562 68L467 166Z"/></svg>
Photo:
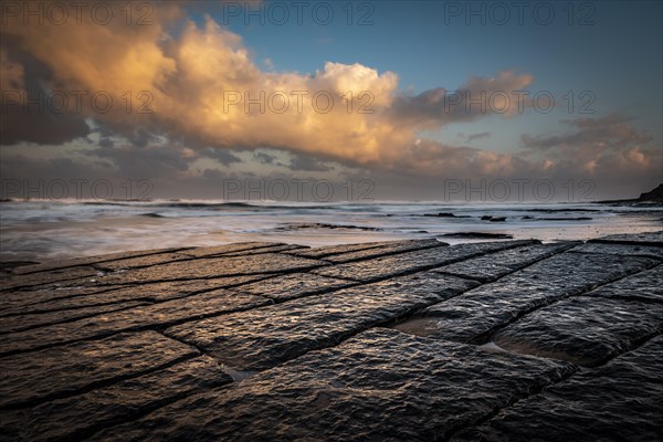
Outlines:
<svg viewBox="0 0 663 442"><path fill-rule="evenodd" d="M527 315L493 336L507 351L594 367L663 330L663 304L579 296Z"/></svg>

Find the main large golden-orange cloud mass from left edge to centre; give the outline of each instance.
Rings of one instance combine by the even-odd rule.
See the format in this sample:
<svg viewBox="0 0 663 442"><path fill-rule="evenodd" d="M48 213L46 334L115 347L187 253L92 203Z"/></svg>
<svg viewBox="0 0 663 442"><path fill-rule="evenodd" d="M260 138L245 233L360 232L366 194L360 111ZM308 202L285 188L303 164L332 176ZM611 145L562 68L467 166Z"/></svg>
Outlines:
<svg viewBox="0 0 663 442"><path fill-rule="evenodd" d="M120 7L113 6L117 17L123 17ZM10 20L3 34L14 42L12 50L49 70L41 78L45 88L86 91L90 96L103 92L114 104L102 113L86 96L78 112L60 116L71 118L69 125L59 123L71 133L57 139L86 135L75 123L92 118L141 147L166 136L193 147L272 147L347 165L392 168L418 130L483 115L474 109L444 115L440 101L444 90L406 96L398 93L394 73L360 63L327 62L312 74L263 71L240 35L209 15L197 25L178 3L155 6L152 21L148 27L127 27L122 20L103 27L86 21L25 27ZM7 64L14 83L21 66ZM511 91L532 81L530 75L502 72L495 78L470 78L461 91ZM27 134L23 138L3 134L3 139L52 143Z"/></svg>

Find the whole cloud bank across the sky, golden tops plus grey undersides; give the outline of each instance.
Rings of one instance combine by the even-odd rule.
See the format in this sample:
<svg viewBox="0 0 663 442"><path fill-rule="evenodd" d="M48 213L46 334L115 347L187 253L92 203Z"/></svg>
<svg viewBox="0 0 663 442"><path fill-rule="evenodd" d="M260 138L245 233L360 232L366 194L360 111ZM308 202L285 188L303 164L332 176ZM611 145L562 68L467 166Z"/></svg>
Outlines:
<svg viewBox="0 0 663 442"><path fill-rule="evenodd" d="M115 17L124 17L123 3L107 4ZM523 135L522 150L513 152L452 146L422 135L518 114L513 98L535 81L527 73L502 71L470 77L455 90L413 94L399 90L396 73L360 63L328 61L312 73L265 71L240 35L209 15L200 24L190 20L178 2L155 3L151 20L147 27L127 27L123 20L65 27L9 20L0 46L3 91L24 92L30 99L40 93L86 95L81 108L60 113L11 106L1 116L2 145L95 143L86 157L99 173L148 173L173 182L200 179L191 165L204 158L238 165L240 150L255 152L256 170L343 173L354 168L392 179L393 173L419 180L451 172L660 173L660 147L648 147L651 137L620 115L566 120L569 131L562 135ZM94 106L95 93L112 98L107 112ZM512 98L508 106L501 102L505 96ZM465 143L488 136L480 131ZM29 172L27 160L12 158ZM39 162L34 170L46 166ZM200 167L209 177L221 173Z"/></svg>

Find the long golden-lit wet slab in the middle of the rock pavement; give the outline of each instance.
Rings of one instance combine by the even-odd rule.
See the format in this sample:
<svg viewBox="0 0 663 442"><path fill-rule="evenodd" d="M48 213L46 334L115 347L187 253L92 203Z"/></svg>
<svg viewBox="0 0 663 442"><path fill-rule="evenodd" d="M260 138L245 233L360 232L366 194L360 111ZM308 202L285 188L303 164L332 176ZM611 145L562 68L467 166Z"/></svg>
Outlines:
<svg viewBox="0 0 663 442"><path fill-rule="evenodd" d="M262 370L476 285L422 273L192 322L165 334L204 349L234 369Z"/></svg>

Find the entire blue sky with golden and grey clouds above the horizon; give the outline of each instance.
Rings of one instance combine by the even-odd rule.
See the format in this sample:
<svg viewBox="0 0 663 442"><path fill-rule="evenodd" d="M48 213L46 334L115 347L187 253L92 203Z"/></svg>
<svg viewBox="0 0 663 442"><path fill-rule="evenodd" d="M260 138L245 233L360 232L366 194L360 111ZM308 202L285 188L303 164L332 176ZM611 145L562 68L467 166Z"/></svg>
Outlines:
<svg viewBox="0 0 663 442"><path fill-rule="evenodd" d="M1 6L1 198L575 202L663 182L660 1L75 4Z"/></svg>

